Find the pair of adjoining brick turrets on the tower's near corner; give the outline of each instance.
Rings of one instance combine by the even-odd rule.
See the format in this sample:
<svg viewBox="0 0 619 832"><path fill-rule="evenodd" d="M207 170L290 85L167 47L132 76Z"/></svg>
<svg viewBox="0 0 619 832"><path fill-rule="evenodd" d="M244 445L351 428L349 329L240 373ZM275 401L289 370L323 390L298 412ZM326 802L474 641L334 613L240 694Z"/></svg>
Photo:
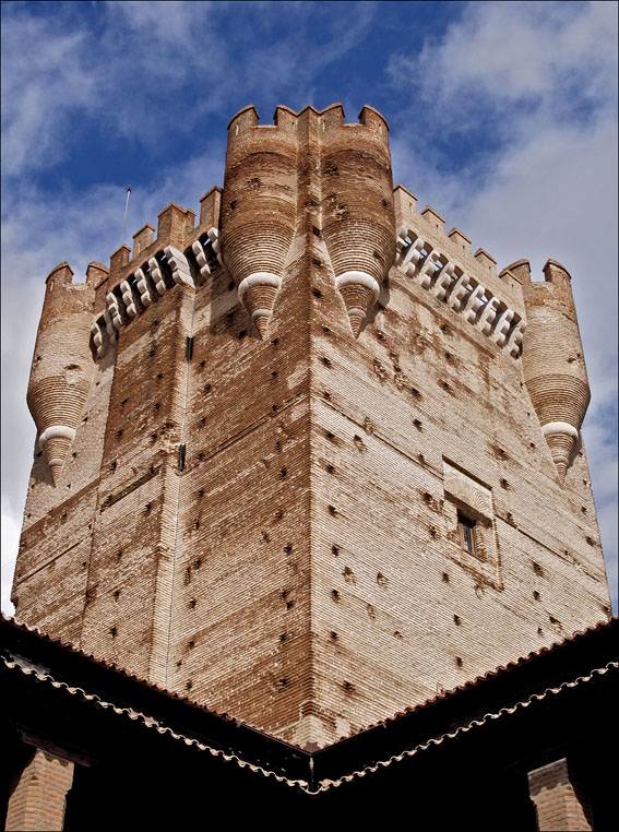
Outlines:
<svg viewBox="0 0 619 832"><path fill-rule="evenodd" d="M320 207L319 230L358 334L395 253L388 123L365 106L358 124L345 124L341 104L300 112L278 106L274 126L258 119L249 105L228 124L222 255L239 297L264 336L288 251L306 221L299 194L307 191L305 202ZM310 165L320 177L310 187L297 157L312 129Z"/></svg>

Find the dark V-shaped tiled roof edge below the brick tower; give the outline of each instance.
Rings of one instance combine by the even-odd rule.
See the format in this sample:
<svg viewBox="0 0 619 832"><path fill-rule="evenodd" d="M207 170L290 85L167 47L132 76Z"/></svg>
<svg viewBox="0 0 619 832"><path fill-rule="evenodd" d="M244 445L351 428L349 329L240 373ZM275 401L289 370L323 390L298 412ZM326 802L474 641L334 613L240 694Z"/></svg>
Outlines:
<svg viewBox="0 0 619 832"><path fill-rule="evenodd" d="M41 643L52 645L53 650L60 651L59 655L67 652L69 655L81 656L80 661L87 659L94 667L105 668L104 677L106 685L104 685L104 688L107 692L99 690L96 684L93 685L92 682L85 684L84 687L73 685L72 682L76 675L73 665L69 674L71 678L66 680L61 678L62 671L48 670L47 667L31 662L27 657L22 658L21 655L17 655L19 651L14 653L10 650L4 651L2 663L9 671L19 671L35 684L50 685L98 708L111 709L114 713L121 717L138 721L145 727L155 729L159 734L168 734L175 740L182 741L188 746L194 746L213 757L219 757L226 762L234 762L240 768L248 768L250 771L262 774L265 777L274 777L278 782L298 787L307 794L318 794L337 787L354 778L362 777L394 762L418 754L431 746L443 745L448 740L480 728L492 721L527 709L535 702L548 700L568 689L582 688L587 682L604 677L609 671L615 671L619 667L618 662L609 661L615 656L614 653L612 656L610 655L608 646L612 631L618 623L618 619L614 618L608 622L600 622L593 628L576 632L560 642L532 652L515 662L510 662L459 688L440 693L415 708L407 708L376 725L368 726L353 737L344 738L333 746L310 754L276 737L260 732L242 721L235 720L227 714L218 714L205 705L179 697L176 693L170 693L152 682L129 674L126 669L119 668L112 663L87 654L72 644L52 639L36 628L28 627L4 615L2 615L2 621L14 628L15 631L35 637L35 643L40 640ZM600 638L603 642L599 642ZM596 644L598 646L594 649ZM602 647L599 646L600 644L603 645ZM571 658L569 655L566 655L566 650L571 651ZM574 650L579 652L575 658L573 655ZM616 642L612 650L616 650ZM45 657L47 658L47 656ZM550 659L555 662L555 666L548 665ZM557 676L557 667L560 667L559 677ZM111 675L109 675L110 673ZM64 676L68 678L67 674ZM111 689L108 687L107 682L114 682L115 678L131 680L129 684L129 699L127 691L124 691L123 696L122 691L114 684ZM132 687L134 685L140 687ZM499 686L498 688L497 685ZM88 688L90 691L84 688ZM153 696L156 694L156 699L151 701L146 698L144 701L134 701L132 697L135 697L135 700L141 699L139 694L141 689L153 691ZM95 693L93 690L97 692ZM117 699L117 701L110 701L114 699ZM171 716L170 714L165 715L165 710L162 712L159 708L162 702L165 704L166 701L171 700L178 702L178 705L175 705L175 708L182 709L182 706L187 706L194 713L200 712L201 714L209 715L211 720L215 718L215 725L225 723L235 733L228 736L229 732L226 732L224 741L222 736L209 734L209 730L205 732L203 729L200 722L203 721L203 717L200 717L199 723L195 723L187 712L182 713L186 713L186 716L189 716L189 718L184 718L183 725L179 729L178 718L175 717L175 714L178 712L175 712L172 709ZM170 721L175 725L174 728L168 724ZM195 725L198 725L198 728L194 735L191 736ZM213 723L210 723L210 725L212 726ZM384 728L389 730L385 732ZM240 730L240 734L236 733L238 730ZM217 739L211 744L210 737L213 736L216 736ZM279 765L266 768L260 764L260 761L264 759L261 753L258 754L254 761L248 759L251 757L251 753L246 753L247 748L243 751L240 749L240 745L238 745L239 739L247 739L248 736L250 739L251 737L254 739L258 737L260 742L266 742L270 748L277 751L277 753L282 753L283 757L279 760ZM286 774L291 773L289 770L289 758L286 757L288 753L287 749L294 750L297 762L300 761L294 773L301 774L301 776L286 776ZM269 757L269 759L271 765L273 758ZM312 778L314 761L316 780ZM278 770L275 771L275 768L278 768ZM305 776L306 770L307 776ZM342 774L342 771L345 773Z"/></svg>

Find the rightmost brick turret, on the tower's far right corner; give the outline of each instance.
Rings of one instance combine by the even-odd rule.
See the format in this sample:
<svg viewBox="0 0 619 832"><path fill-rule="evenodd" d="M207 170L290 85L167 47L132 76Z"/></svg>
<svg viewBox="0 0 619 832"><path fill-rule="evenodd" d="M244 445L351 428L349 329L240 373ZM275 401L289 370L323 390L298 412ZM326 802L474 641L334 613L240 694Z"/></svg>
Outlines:
<svg viewBox="0 0 619 832"><path fill-rule="evenodd" d="M527 276L524 380L562 484L591 397L570 275L556 260L544 266L544 283L531 283L526 261L509 269Z"/></svg>

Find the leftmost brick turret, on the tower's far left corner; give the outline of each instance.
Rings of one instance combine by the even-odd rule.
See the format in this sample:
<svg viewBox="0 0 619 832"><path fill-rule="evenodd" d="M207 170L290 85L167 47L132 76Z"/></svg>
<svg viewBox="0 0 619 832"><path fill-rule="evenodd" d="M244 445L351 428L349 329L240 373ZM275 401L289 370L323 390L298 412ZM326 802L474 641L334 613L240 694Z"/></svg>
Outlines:
<svg viewBox="0 0 619 832"><path fill-rule="evenodd" d="M91 263L86 283L72 284L69 264L60 263L46 281L27 402L53 485L75 436L93 379L95 364L90 347L93 284L103 269Z"/></svg>

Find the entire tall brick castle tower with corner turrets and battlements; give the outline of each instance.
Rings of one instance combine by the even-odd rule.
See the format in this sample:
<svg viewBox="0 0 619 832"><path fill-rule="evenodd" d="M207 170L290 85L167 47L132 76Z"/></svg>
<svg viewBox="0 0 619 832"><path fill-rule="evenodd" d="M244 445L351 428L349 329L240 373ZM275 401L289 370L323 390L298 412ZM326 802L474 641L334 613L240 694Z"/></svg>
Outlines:
<svg viewBox="0 0 619 832"><path fill-rule="evenodd" d="M13 599L311 750L610 607L568 272L418 213L371 107L274 121L198 225L48 277Z"/></svg>

